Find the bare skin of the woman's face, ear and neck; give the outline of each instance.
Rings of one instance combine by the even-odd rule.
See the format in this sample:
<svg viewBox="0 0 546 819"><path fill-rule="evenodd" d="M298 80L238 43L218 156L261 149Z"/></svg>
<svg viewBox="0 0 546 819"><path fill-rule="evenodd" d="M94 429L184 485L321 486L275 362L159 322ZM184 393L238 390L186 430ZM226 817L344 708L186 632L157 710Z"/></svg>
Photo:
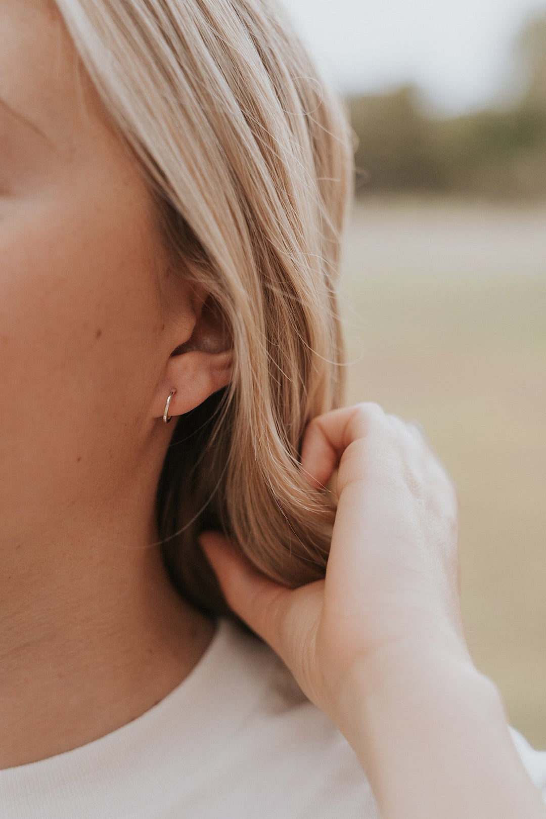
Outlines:
<svg viewBox="0 0 546 819"><path fill-rule="evenodd" d="M151 545L165 400L182 414L229 379L205 296L56 12L2 0L0 768L138 717L210 643Z"/></svg>

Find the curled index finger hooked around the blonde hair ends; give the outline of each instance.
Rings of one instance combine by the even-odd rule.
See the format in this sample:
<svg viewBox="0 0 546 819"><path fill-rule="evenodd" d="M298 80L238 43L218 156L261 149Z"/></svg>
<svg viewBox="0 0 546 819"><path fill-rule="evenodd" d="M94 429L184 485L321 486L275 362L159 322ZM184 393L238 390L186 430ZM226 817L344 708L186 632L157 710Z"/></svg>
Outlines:
<svg viewBox="0 0 546 819"><path fill-rule="evenodd" d="M377 404L357 404L319 415L305 431L301 447L302 472L316 487L326 485L352 441L368 434L374 419L386 419Z"/></svg>

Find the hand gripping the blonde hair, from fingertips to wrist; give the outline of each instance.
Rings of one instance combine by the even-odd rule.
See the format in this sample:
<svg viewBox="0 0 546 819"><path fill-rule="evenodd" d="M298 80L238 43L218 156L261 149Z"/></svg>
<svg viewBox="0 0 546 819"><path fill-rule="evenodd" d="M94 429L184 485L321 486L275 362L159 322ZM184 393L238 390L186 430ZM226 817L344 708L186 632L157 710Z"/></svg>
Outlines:
<svg viewBox="0 0 546 819"><path fill-rule="evenodd" d="M448 651L471 663L458 590L457 500L412 423L375 404L312 421L301 468L320 489L338 468L326 578L296 590L264 577L217 533L201 545L230 607L280 655L334 721L356 667L393 652Z"/></svg>

